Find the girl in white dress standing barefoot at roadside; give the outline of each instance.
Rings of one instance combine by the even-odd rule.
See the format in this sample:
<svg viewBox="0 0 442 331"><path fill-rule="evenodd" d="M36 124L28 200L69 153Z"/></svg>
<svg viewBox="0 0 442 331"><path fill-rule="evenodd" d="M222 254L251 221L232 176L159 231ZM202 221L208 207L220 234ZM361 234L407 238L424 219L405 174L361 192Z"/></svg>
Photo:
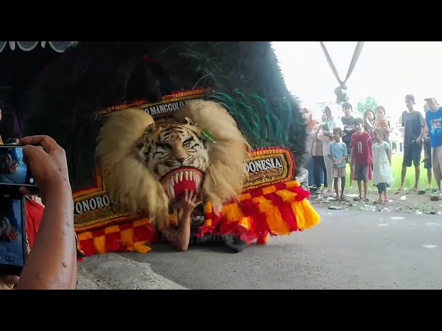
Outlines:
<svg viewBox="0 0 442 331"><path fill-rule="evenodd" d="M387 203L387 184L393 181L392 150L390 143L384 141L385 131L378 127L373 130L376 143L373 144L373 182L378 188L379 200L377 203Z"/></svg>

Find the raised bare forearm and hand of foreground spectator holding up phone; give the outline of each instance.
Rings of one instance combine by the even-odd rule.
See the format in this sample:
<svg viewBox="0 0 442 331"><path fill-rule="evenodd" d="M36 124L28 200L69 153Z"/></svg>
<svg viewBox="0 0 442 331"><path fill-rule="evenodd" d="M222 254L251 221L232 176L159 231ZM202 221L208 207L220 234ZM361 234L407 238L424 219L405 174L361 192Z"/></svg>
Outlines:
<svg viewBox="0 0 442 331"><path fill-rule="evenodd" d="M77 283L74 208L66 154L48 136L21 140L45 205L37 237L20 275L18 289L68 290ZM40 150L32 145L41 145ZM20 188L22 194L31 194Z"/></svg>

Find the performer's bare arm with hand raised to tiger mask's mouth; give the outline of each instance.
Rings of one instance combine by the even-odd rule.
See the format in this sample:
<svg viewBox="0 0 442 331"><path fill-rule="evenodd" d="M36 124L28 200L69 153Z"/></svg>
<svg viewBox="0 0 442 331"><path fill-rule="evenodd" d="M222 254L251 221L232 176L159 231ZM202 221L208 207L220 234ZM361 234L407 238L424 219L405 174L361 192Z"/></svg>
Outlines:
<svg viewBox="0 0 442 331"><path fill-rule="evenodd" d="M191 238L191 214L200 202L195 202L196 194L185 191L184 201L182 201L183 214L180 218L178 228L175 230L171 227L161 230L167 241L181 252L185 252L189 248L189 240Z"/></svg>

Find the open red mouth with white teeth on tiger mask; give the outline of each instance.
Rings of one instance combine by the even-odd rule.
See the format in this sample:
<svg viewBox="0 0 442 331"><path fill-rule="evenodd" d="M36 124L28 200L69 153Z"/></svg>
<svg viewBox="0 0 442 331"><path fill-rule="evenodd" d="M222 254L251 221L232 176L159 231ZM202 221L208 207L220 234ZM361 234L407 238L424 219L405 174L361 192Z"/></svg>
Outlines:
<svg viewBox="0 0 442 331"><path fill-rule="evenodd" d="M193 167L175 168L161 177L160 182L171 200L178 200L186 190L200 193L204 172Z"/></svg>

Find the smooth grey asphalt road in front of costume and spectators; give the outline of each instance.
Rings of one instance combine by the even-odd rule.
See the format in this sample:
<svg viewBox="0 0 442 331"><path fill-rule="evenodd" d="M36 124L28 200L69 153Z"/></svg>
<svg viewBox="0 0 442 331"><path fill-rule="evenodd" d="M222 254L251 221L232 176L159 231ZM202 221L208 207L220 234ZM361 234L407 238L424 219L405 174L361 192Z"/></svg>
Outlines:
<svg viewBox="0 0 442 331"><path fill-rule="evenodd" d="M442 289L440 214L317 210L316 227L238 254L154 245L119 255L190 289Z"/></svg>

